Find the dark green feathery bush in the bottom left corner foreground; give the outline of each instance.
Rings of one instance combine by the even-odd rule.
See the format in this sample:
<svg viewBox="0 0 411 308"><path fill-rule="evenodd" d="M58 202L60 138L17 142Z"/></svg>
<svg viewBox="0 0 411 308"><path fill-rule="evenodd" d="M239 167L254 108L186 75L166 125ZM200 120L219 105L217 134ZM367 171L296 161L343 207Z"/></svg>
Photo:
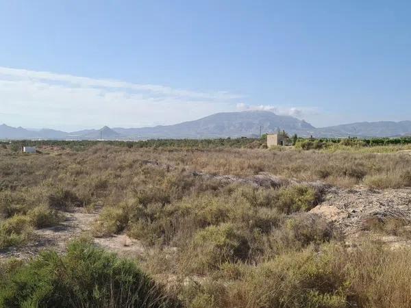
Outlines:
<svg viewBox="0 0 411 308"><path fill-rule="evenodd" d="M85 241L19 266L0 282L0 307L179 307L134 262Z"/></svg>

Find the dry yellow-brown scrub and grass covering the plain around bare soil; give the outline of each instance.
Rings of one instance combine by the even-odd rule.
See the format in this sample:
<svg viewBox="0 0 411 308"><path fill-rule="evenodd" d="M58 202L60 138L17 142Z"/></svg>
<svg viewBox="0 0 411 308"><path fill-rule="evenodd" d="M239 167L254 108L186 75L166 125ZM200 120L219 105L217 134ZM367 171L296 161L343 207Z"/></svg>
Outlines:
<svg viewBox="0 0 411 308"><path fill-rule="evenodd" d="M23 244L32 228L57 224L62 211L102 206L94 235L127 233L140 240L147 247L142 268L169 281L186 307L411 303L410 249L390 251L377 243L348 249L332 225L307 213L323 197L310 181L410 186L406 153L94 146L0 155L2 248ZM301 183L261 188L194 171L269 172ZM365 228L406 236L404 227L370 221Z"/></svg>

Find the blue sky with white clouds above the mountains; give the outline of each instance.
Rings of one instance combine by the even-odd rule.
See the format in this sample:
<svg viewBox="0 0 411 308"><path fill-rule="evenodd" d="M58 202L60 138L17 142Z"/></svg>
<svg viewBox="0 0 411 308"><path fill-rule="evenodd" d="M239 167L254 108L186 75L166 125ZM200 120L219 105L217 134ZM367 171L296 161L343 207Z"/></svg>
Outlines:
<svg viewBox="0 0 411 308"><path fill-rule="evenodd" d="M410 1L0 0L0 123L411 120Z"/></svg>

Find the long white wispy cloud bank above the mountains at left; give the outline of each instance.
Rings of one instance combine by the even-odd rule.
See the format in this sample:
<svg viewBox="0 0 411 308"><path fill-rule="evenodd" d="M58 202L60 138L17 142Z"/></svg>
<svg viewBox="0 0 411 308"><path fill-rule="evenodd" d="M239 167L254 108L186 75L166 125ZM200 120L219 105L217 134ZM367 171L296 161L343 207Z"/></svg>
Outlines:
<svg viewBox="0 0 411 308"><path fill-rule="evenodd" d="M10 125L75 129L171 124L235 110L240 98L225 91L0 67L0 122Z"/></svg>

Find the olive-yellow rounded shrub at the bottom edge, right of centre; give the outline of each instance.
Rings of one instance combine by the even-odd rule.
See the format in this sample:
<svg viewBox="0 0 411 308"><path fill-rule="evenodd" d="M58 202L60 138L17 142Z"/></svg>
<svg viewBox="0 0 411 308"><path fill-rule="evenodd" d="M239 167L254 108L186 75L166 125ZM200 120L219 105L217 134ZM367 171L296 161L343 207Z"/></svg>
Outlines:
<svg viewBox="0 0 411 308"><path fill-rule="evenodd" d="M250 307L347 307L347 276L338 251L329 250L285 254L250 268L234 294L247 290Z"/></svg>

